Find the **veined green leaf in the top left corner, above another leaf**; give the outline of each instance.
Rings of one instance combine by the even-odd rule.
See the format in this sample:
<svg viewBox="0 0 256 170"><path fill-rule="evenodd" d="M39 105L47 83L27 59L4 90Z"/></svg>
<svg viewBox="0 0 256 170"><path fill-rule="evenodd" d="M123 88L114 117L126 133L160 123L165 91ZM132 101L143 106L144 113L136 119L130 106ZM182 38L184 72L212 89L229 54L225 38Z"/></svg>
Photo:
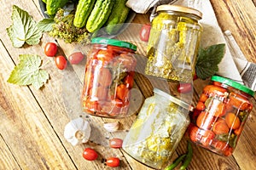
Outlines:
<svg viewBox="0 0 256 170"><path fill-rule="evenodd" d="M12 20L13 24L7 28L7 32L15 48L22 47L25 42L29 45L40 42L42 31L38 30L36 22L26 11L14 5Z"/></svg>

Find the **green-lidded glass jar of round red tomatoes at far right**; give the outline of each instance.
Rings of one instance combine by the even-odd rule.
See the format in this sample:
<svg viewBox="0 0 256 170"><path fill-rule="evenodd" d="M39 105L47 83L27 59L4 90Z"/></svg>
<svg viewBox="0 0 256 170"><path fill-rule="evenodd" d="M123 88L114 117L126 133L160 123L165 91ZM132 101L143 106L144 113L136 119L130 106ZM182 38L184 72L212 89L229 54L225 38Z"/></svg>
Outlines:
<svg viewBox="0 0 256 170"><path fill-rule="evenodd" d="M213 76L191 116L189 139L218 155L230 156L253 109L253 95L238 82Z"/></svg>

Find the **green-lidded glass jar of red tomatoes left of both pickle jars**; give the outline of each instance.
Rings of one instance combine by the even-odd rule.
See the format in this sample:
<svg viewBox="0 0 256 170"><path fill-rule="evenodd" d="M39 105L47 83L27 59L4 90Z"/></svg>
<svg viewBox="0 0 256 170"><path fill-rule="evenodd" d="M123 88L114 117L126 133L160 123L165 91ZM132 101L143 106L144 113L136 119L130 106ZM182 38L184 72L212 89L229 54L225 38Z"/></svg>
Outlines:
<svg viewBox="0 0 256 170"><path fill-rule="evenodd" d="M93 38L91 43L82 92L84 111L93 116L127 116L137 46L104 37Z"/></svg>

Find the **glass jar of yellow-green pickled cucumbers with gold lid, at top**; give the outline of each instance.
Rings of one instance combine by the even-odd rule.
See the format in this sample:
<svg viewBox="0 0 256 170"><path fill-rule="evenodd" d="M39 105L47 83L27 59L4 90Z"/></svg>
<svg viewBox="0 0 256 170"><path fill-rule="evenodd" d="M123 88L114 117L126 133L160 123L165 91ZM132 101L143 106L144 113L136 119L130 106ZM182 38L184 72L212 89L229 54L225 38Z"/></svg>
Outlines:
<svg viewBox="0 0 256 170"><path fill-rule="evenodd" d="M145 73L169 81L191 82L201 40L202 14L194 8L160 5L152 21Z"/></svg>

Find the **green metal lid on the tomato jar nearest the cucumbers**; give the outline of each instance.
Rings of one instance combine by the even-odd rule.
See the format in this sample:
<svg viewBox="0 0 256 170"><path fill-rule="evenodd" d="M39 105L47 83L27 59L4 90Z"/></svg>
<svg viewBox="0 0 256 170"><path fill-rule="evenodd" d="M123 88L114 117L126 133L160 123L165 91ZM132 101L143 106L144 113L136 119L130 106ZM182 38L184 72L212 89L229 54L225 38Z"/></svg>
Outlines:
<svg viewBox="0 0 256 170"><path fill-rule="evenodd" d="M121 48L130 48L134 51L137 50L137 46L130 42L123 42L116 39L109 39L106 37L92 38L91 43L108 44L108 45L118 46Z"/></svg>

